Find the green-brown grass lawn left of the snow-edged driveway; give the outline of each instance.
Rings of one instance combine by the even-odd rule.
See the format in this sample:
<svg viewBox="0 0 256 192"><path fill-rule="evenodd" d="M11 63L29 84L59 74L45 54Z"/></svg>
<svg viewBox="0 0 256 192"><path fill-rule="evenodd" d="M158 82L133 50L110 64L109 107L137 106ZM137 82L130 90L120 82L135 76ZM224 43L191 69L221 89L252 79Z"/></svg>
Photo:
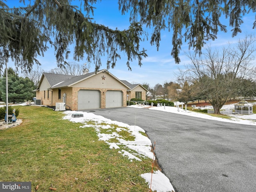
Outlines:
<svg viewBox="0 0 256 192"><path fill-rule="evenodd" d="M61 192L149 191L140 174L151 172L151 159L130 162L98 140L93 122L80 128L63 116L50 108L20 106L22 124L0 131L2 182L30 181L32 191L36 185L49 191L51 184ZM132 140L128 131L118 134Z"/></svg>

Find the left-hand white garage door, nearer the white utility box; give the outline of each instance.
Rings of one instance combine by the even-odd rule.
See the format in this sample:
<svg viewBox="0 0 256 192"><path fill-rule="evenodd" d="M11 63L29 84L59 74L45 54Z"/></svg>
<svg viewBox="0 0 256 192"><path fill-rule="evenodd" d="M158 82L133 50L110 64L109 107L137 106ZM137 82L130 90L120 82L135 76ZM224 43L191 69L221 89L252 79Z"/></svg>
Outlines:
<svg viewBox="0 0 256 192"><path fill-rule="evenodd" d="M78 91L78 110L100 108L100 92L98 90Z"/></svg>

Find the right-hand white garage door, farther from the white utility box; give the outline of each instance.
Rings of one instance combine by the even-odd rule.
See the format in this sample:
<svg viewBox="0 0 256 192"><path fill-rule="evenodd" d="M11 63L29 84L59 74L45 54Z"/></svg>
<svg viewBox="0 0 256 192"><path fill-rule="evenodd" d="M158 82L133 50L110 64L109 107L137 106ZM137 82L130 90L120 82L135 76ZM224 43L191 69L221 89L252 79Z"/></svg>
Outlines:
<svg viewBox="0 0 256 192"><path fill-rule="evenodd" d="M122 91L107 91L106 92L106 108L122 107L123 94Z"/></svg>

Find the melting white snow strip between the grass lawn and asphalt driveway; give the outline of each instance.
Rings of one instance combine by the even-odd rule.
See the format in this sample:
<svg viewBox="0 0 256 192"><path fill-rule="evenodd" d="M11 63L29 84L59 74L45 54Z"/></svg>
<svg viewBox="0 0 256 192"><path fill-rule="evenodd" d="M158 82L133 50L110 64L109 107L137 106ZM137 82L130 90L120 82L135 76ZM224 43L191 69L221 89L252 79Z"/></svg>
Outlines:
<svg viewBox="0 0 256 192"><path fill-rule="evenodd" d="M83 117L79 118L72 117L72 114L78 113L76 111L64 111L63 113L66 114L63 119L70 120L71 122L83 123L84 125L81 126L82 128L94 127L99 137L99 140L105 141L107 144L109 144L109 147L111 149L120 149L118 145L125 146L128 150L122 149L118 152L123 156L127 156L128 159L130 159L131 161L141 161L139 157L148 157L152 160L155 159L154 154L151 152L151 141L148 137L142 135L142 133L145 133L145 130L143 130L139 126L130 126L122 122L112 121L110 119L104 118L103 116L95 115L93 113L79 112L79 114L83 114ZM93 124L88 123L90 121L92 121ZM114 130L113 125L118 126L115 126L116 130ZM101 130L106 131L102 133ZM134 140L124 140L122 136L118 134L118 132L122 130L128 131L132 136L134 136ZM111 138L118 140L118 142L109 142ZM129 150L135 151L137 154L134 154L134 152L132 154ZM157 192L174 192L174 188L172 187L169 179L159 170L154 172L153 174L146 173L142 174L141 176L145 179L146 182L150 183L151 175L151 188L153 191L156 190Z"/></svg>

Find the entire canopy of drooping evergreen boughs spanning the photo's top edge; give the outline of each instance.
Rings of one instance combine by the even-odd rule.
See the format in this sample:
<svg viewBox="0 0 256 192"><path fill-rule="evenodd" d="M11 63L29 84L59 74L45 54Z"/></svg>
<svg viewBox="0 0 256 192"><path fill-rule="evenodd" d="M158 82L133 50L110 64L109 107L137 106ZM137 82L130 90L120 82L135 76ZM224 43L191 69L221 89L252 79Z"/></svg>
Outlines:
<svg viewBox="0 0 256 192"><path fill-rule="evenodd" d="M30 71L33 64L39 64L37 56L43 56L48 46L54 46L57 65L62 67L70 54L69 46L74 44L74 59L86 58L95 69L101 66L102 56L107 56L107 68L114 68L121 52L127 56L127 66L138 59L139 66L146 50L140 49L142 27L153 28L150 43L160 46L161 32L172 31L171 55L179 63L179 53L184 41L189 48L201 53L208 40L215 40L219 30L226 32L220 22L222 15L229 18L232 36L242 30L242 16L256 11L254 0L119 0L122 14L130 13L130 27L127 30L112 30L92 22L93 4L97 0L80 0L80 7L71 0L34 0L24 7L8 8L0 0L0 68L11 58L16 68ZM27 3L27 2L26 2ZM256 27L254 22L253 28Z"/></svg>

